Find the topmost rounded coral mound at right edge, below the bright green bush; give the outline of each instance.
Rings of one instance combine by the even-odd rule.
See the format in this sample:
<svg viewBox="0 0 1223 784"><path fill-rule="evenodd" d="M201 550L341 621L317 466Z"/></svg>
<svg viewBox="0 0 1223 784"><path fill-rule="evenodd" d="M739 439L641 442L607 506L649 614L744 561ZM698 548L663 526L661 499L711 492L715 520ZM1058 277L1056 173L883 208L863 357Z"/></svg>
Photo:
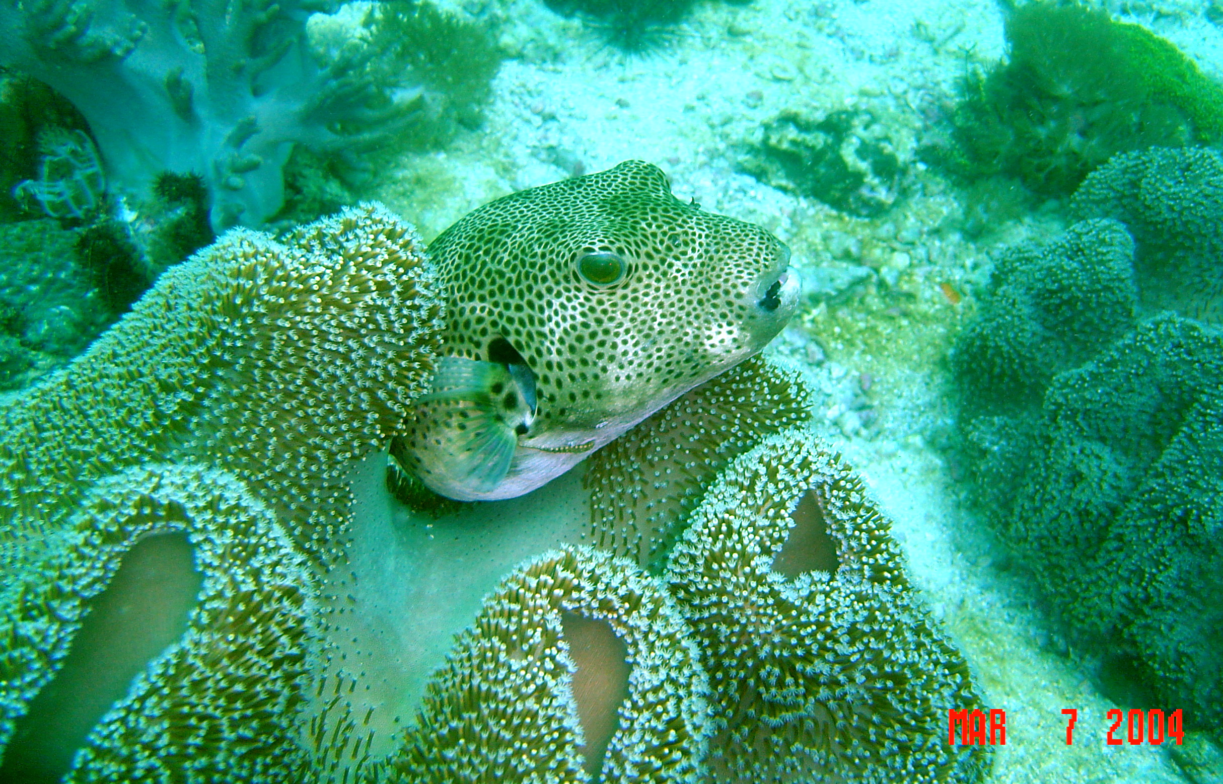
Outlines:
<svg viewBox="0 0 1223 784"><path fill-rule="evenodd" d="M1213 149L1117 155L1075 191L1080 218L1114 218L1137 245L1144 305L1223 323L1223 157Z"/></svg>

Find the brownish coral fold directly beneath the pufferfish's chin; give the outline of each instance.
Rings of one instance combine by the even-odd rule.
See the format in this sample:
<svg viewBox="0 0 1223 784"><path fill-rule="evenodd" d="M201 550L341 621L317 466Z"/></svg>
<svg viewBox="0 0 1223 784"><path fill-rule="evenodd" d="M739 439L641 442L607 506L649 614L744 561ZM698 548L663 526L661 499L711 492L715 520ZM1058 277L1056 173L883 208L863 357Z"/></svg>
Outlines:
<svg viewBox="0 0 1223 784"><path fill-rule="evenodd" d="M657 566L718 471L811 405L797 372L762 356L676 399L591 459L593 541Z"/></svg>

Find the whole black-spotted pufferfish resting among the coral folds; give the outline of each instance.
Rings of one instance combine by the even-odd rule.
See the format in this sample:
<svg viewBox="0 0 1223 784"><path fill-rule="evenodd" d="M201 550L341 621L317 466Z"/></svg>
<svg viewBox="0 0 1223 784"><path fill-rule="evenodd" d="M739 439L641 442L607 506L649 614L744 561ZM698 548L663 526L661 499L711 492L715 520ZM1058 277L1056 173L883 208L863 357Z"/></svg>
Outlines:
<svg viewBox="0 0 1223 784"><path fill-rule="evenodd" d="M520 191L428 248L440 358L391 457L456 500L533 490L772 340L799 296L759 226L630 160Z"/></svg>

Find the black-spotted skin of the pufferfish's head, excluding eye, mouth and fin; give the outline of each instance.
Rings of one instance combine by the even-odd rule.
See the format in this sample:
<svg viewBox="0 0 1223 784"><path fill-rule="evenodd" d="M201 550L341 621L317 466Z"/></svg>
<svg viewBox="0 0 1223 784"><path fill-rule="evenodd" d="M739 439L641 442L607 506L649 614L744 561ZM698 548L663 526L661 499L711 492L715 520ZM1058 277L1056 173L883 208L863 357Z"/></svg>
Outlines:
<svg viewBox="0 0 1223 784"><path fill-rule="evenodd" d="M489 360L508 340L536 374L539 429L631 416L763 345L752 340L767 329L753 320L768 320L756 287L785 267L783 248L675 198L642 161L521 191L429 246L448 292L440 353ZM627 262L609 286L577 273L600 252Z"/></svg>

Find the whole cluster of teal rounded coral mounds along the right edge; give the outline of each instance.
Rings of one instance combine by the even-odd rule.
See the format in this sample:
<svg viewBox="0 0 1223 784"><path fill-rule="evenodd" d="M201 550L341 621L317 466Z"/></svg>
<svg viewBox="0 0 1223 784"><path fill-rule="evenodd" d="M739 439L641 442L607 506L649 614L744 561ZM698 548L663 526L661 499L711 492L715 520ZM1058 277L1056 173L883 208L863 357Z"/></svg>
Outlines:
<svg viewBox="0 0 1223 784"><path fill-rule="evenodd" d="M1217 298L1186 270L1217 264L1219 169L1189 149L1099 169L1071 205L1108 218L1004 257L953 357L956 459L1055 621L1098 658L1101 686L1214 731L1223 338L1147 308L1168 291Z"/></svg>

